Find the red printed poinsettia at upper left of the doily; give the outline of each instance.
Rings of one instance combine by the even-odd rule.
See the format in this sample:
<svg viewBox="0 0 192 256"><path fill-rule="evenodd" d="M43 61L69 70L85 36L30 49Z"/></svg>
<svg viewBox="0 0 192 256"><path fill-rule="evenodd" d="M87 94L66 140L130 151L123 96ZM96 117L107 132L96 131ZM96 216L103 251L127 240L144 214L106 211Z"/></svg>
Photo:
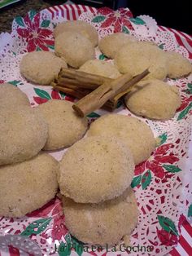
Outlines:
<svg viewBox="0 0 192 256"><path fill-rule="evenodd" d="M29 14L27 14L24 17L24 29L18 28L17 33L28 42L28 51L35 51L37 47L43 51L49 51L48 46L54 45L54 40L50 39L52 31L50 29L41 28L40 13L37 13L37 15L34 15L31 19Z"/></svg>

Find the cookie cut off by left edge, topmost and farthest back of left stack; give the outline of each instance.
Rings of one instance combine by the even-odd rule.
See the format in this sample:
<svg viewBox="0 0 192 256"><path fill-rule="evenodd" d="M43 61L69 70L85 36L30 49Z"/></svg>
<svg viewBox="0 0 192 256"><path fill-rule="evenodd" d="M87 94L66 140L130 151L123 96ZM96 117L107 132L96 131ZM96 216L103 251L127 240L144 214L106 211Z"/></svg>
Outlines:
<svg viewBox="0 0 192 256"><path fill-rule="evenodd" d="M0 107L15 108L17 106L30 106L27 95L18 87L9 83L0 85Z"/></svg>

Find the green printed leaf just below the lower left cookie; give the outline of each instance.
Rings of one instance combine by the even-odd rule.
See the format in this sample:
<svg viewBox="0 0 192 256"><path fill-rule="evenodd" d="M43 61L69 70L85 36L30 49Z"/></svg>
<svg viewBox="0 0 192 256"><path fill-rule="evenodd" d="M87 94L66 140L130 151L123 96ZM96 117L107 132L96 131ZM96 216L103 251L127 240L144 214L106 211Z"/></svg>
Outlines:
<svg viewBox="0 0 192 256"><path fill-rule="evenodd" d="M28 227L22 232L21 236L31 236L32 234L37 235L43 232L49 225L51 218L40 218L30 223Z"/></svg>

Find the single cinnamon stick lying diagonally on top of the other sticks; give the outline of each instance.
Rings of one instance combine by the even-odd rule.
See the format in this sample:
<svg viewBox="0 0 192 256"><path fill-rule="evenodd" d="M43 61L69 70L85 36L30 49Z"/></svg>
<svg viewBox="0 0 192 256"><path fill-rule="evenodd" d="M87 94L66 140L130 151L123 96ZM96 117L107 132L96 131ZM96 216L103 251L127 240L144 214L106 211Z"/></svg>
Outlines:
<svg viewBox="0 0 192 256"><path fill-rule="evenodd" d="M85 117L94 110L101 108L108 99L112 99L116 95L128 90L130 86L142 80L148 73L149 70L146 69L133 78L130 77L129 73L126 73L111 82L104 82L103 85L98 86L98 88L89 93L89 95L85 95L84 98L80 99L76 104L73 104L72 108L80 117Z"/></svg>

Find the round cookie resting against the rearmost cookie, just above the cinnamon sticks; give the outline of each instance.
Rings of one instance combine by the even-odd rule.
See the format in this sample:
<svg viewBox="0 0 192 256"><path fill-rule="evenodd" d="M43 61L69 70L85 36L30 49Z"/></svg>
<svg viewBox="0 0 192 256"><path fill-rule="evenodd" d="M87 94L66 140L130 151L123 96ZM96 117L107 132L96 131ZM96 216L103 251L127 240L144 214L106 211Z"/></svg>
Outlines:
<svg viewBox="0 0 192 256"><path fill-rule="evenodd" d="M94 46L89 39L81 33L71 31L60 33L55 38L55 54L73 68L79 68L95 57Z"/></svg>

